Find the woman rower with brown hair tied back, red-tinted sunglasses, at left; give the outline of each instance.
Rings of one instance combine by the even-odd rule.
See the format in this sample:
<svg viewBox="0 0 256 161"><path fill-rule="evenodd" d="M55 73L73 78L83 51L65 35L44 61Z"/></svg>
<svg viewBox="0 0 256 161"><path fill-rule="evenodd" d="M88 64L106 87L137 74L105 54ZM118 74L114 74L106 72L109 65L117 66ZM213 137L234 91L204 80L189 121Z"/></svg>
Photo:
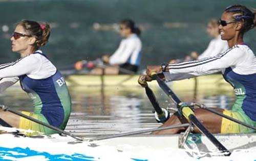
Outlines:
<svg viewBox="0 0 256 161"><path fill-rule="evenodd" d="M50 26L47 23L39 24L31 20L18 22L11 41L12 51L19 53L20 58L0 65L0 91L4 91L19 80L20 86L32 99L34 106L34 112L22 111L22 113L65 129L71 111L69 90L57 68L39 50L48 42L49 36ZM16 128L45 134L56 133L52 129L8 111L0 111L0 118Z"/></svg>

